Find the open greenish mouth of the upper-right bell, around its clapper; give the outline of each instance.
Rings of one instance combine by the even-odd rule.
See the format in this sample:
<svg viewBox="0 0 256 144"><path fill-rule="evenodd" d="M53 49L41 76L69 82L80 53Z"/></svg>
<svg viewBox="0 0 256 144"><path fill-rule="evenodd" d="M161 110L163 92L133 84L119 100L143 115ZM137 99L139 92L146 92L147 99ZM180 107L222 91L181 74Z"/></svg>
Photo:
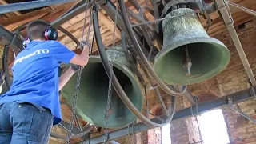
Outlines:
<svg viewBox="0 0 256 144"><path fill-rule="evenodd" d="M165 47L155 58L154 71L169 85L190 85L213 78L230 62L230 51L218 39L210 37L182 38ZM191 74L182 66L187 48L192 62Z"/></svg>

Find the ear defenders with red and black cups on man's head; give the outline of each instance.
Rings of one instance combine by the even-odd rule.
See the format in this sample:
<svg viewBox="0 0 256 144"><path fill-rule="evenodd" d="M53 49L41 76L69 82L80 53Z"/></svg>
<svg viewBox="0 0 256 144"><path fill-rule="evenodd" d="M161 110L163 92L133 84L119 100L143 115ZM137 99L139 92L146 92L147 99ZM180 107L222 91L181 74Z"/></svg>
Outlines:
<svg viewBox="0 0 256 144"><path fill-rule="evenodd" d="M38 20L38 21L41 21L41 20ZM43 22L43 21L41 21L41 22ZM49 26L45 30L44 37L46 38L46 41L48 41L48 40L54 40L55 41L55 40L58 39L58 30L56 30L53 27ZM30 42L30 38L29 38L29 36L26 36L26 38L23 41L23 47L26 48L26 46L27 46L27 44L29 42Z"/></svg>

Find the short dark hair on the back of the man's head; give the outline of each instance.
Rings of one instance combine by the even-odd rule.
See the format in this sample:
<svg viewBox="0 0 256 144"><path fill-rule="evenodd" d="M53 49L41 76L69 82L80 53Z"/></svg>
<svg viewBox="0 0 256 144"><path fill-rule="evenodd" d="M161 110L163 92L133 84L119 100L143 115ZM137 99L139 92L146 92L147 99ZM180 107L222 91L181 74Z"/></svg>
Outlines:
<svg viewBox="0 0 256 144"><path fill-rule="evenodd" d="M50 25L47 22L37 20L30 22L26 27L27 35L30 38L30 41L34 39L45 39L44 34Z"/></svg>

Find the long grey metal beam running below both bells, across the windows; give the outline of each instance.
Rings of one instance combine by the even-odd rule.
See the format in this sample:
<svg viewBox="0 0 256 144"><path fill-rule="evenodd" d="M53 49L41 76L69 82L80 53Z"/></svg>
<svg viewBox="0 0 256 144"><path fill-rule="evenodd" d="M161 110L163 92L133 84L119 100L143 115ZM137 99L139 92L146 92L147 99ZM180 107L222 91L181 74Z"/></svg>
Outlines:
<svg viewBox="0 0 256 144"><path fill-rule="evenodd" d="M254 88L255 90L255 88ZM232 98L234 103L238 103L238 102L243 102L246 101L250 98L254 98L254 94L252 91L252 88L248 89L248 90L242 90L239 91L237 93L234 94L230 94L227 95L225 97L222 98L218 98L218 99L214 99L210 102L203 102L198 104L198 111L199 113L204 113L206 111L209 110L213 110L213 109L217 109L220 106L225 106L228 104L228 98ZM195 106L192 106L193 111L195 112ZM190 117L191 116L191 111L190 111L190 107L186 108L184 110L179 110L178 112L176 112L174 114L174 119L178 119L178 118L186 118L186 117ZM162 116L161 118L165 119L166 116ZM151 119L152 121L158 121L157 118L153 118ZM153 127L147 126L146 124L139 122L134 124L134 133L139 133L141 131L144 130L150 130ZM115 138L121 138L123 136L127 135L127 130L129 129L129 127L123 128L121 130L115 130L109 133L109 140L113 140ZM104 141L104 137L105 135L99 135L97 137L94 138L90 138L90 143L100 143ZM78 142L78 144L89 144L88 142L82 141L82 142Z"/></svg>

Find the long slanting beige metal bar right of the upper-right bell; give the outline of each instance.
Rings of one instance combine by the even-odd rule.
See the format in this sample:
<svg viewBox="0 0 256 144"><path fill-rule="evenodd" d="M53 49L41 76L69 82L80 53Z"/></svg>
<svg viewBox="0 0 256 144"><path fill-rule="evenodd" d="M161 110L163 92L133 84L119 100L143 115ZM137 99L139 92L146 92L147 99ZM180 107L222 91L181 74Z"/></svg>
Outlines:
<svg viewBox="0 0 256 144"><path fill-rule="evenodd" d="M242 64L246 69L246 73L248 74L248 77L250 78L250 82L252 84L252 86L256 86L256 80L254 78L254 73L250 68L250 64L248 62L248 59L246 58L246 54L244 52L244 50L242 49L242 44L238 38L238 34L236 33L235 29L234 29L234 21L233 18L230 15L230 10L228 9L228 7L226 6L226 0L216 0L215 1L217 6L218 6L218 10L220 11L220 13L222 14L222 19L226 24L226 28L230 33L230 36L234 42L234 46L238 51L238 54L241 58Z"/></svg>

